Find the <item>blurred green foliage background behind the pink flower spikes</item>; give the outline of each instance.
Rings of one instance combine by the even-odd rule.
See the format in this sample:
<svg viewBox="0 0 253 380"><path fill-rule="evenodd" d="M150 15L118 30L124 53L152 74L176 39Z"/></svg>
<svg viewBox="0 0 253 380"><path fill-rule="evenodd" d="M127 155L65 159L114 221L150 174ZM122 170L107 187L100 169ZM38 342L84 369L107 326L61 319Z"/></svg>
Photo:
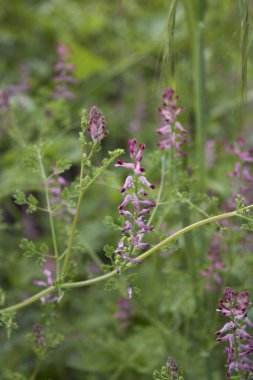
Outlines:
<svg viewBox="0 0 253 380"><path fill-rule="evenodd" d="M14 101L12 123L0 127L1 286L8 294L7 304L36 292L31 284L41 273L39 266L22 256L20 238L50 239L46 217L26 215L13 203L17 189L36 193L41 188L40 179L21 165L27 144L51 139L49 162L71 159L67 177L73 179L79 170L83 107L96 105L107 120L109 137L98 161L107 150L126 148L127 140L135 137L147 144L144 166L150 180L159 183L157 157L149 152L156 147L162 92L172 86L185 107L182 124L189 132L188 164L198 168L193 192L208 191L201 202L213 213L217 210L209 205L211 195L229 198L226 174L233 170L235 159L229 156L228 144L240 134L249 146L253 143L251 13L251 2L227 0L1 1L0 90L22 83L24 75L28 84L26 107ZM72 54L69 61L75 65L78 82L74 101L48 100L57 43L66 44ZM50 120L46 111L52 115ZM211 165L205 153L209 140L215 150ZM108 171L87 193L79 231L88 259L76 259L78 279L94 276L90 257L97 252L104 260L104 244L117 242L117 232L108 230L103 219L117 215L123 176L118 169ZM167 189L172 198L173 186ZM174 230L187 220L180 219L181 206L170 207L166 228ZM188 214L189 221L201 218L197 212ZM200 235L195 236L198 271L207 264L203 253L208 252L214 231L210 227L203 244ZM236 263L232 278L250 288L251 257L245 263L236 261L240 237L229 243L231 262ZM20 329L13 337L6 341L1 331L0 379L144 380L152 378L168 355L185 367L186 379L223 379L222 349L216 347L214 336L218 293L206 295L200 278L196 300L184 267L187 249L185 241L172 259L155 257L138 269L142 296L133 301L133 321L127 330L122 331L114 317L119 293L106 292L103 284L67 293L57 312L53 306L39 304L22 310L17 317ZM27 338L38 321L49 332L65 336L42 363Z"/></svg>

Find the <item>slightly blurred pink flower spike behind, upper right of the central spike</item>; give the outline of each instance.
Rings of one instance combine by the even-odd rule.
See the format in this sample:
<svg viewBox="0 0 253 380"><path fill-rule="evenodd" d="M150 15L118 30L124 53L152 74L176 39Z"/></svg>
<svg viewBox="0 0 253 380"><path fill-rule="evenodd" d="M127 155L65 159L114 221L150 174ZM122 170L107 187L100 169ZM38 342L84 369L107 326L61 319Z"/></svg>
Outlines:
<svg viewBox="0 0 253 380"><path fill-rule="evenodd" d="M177 121L178 115L182 112L181 107L177 107L178 96L172 88L167 88L163 93L163 107L158 109L162 116L162 126L157 129L156 133L162 136L163 140L159 141L157 146L162 150L174 150L176 156L183 156L183 149L186 143L186 130L181 123Z"/></svg>

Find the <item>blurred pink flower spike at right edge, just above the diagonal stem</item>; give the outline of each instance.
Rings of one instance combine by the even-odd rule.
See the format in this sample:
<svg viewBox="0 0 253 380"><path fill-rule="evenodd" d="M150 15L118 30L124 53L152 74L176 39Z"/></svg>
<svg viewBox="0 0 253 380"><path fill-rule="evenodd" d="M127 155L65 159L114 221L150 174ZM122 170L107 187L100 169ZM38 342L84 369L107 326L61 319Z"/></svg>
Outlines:
<svg viewBox="0 0 253 380"><path fill-rule="evenodd" d="M245 140L242 137L236 139L237 144L231 147L233 153L239 158L235 163L233 172L229 173L229 177L234 178L235 182L231 183L232 188L235 189L232 200L228 206L234 208L235 198L240 193L245 198L245 204L250 204L253 201L252 183L253 177L250 175L249 163L253 162L252 149L244 150Z"/></svg>

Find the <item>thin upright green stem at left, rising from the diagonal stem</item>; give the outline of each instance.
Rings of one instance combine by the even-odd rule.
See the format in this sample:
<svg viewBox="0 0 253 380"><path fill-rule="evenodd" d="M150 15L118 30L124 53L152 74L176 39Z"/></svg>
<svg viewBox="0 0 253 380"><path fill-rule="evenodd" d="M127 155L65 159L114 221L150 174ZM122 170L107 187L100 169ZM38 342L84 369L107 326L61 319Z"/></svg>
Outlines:
<svg viewBox="0 0 253 380"><path fill-rule="evenodd" d="M51 209L51 204L50 204L50 199L49 199L48 178L46 177L46 173L45 173L45 169L44 169L44 165L43 165L43 160L42 160L42 154L41 154L40 150L38 150L38 160L39 160L41 177L43 179L43 183L45 186L47 211L48 211L48 215L49 215L49 223L50 223L50 229L51 229L51 235L52 235L53 247L54 247L54 257L55 257L55 262L56 262L56 278L57 278L57 280L59 280L59 277L60 277L60 261L59 261L58 245L57 245L57 240L56 240L53 212Z"/></svg>

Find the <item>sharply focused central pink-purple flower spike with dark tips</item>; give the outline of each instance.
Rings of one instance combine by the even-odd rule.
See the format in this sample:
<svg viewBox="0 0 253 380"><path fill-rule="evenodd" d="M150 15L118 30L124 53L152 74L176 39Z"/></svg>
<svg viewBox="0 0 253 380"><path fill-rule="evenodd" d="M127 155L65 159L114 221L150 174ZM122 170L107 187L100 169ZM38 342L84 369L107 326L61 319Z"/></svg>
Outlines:
<svg viewBox="0 0 253 380"><path fill-rule="evenodd" d="M121 193L125 195L125 198L118 210L119 214L125 218L125 224L122 228L123 237L119 241L115 253L126 261L139 263L139 260L131 257L131 254L134 249L145 249L150 246L149 243L144 243L142 239L145 234L154 229L147 224L146 216L150 213L151 208L156 206L156 203L146 199L146 197L148 195L147 190L154 189L155 185L151 184L144 176L145 170L141 166L145 145L140 144L137 148L135 139L129 140L128 145L132 162L118 160L115 165L133 171L133 174L126 178L121 188Z"/></svg>

